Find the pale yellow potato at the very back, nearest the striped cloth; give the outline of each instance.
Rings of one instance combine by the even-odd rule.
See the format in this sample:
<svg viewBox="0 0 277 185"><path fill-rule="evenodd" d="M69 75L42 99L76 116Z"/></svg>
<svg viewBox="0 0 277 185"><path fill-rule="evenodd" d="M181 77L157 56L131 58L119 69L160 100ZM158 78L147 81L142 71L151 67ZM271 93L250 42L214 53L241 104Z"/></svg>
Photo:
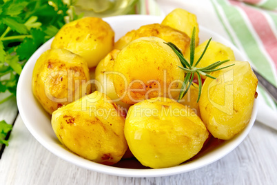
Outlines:
<svg viewBox="0 0 277 185"><path fill-rule="evenodd" d="M189 37L192 37L192 30L196 28L195 32L195 46L198 46L198 23L195 14L189 13L181 8L176 8L163 19L162 25L170 26L181 32L185 32Z"/></svg>

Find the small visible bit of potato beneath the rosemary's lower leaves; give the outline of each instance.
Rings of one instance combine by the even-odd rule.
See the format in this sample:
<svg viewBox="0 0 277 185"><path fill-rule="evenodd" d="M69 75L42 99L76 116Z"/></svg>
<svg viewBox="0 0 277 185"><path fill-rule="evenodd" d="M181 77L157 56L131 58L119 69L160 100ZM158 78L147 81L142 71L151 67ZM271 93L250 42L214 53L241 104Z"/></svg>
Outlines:
<svg viewBox="0 0 277 185"><path fill-rule="evenodd" d="M194 86L190 86L187 94L181 99L180 104L188 106L200 117L199 102L198 99L198 85L193 83Z"/></svg>

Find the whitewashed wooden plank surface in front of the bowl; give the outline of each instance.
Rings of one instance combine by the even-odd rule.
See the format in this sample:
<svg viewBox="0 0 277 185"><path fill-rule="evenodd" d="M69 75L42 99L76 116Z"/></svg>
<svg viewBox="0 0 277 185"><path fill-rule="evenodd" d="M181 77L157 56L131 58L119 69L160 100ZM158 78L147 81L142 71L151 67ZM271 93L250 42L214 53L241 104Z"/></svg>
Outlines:
<svg viewBox="0 0 277 185"><path fill-rule="evenodd" d="M258 122L232 153L203 168L169 177L116 177L56 157L15 122L0 160L0 184L276 184L277 131Z"/></svg>

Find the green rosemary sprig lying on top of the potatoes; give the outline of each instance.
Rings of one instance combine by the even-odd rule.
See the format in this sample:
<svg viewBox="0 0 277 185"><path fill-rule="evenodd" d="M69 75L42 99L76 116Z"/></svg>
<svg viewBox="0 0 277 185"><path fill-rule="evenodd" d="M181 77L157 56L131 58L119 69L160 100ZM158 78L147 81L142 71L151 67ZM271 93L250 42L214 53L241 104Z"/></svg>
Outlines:
<svg viewBox="0 0 277 185"><path fill-rule="evenodd" d="M178 58L181 61L181 64L183 65L183 66L178 66L178 67L181 68L182 70L185 70L185 73L186 73L184 82L182 84L181 92L180 92L180 95L178 97L178 101L180 101L185 96L185 94L189 90L189 87L191 85L193 86L192 81L194 79L195 74L198 78L198 98L197 98L197 102L198 102L199 99L200 99L201 90L202 90L201 75L212 78L212 79L216 79L216 77L212 77L211 75L209 75L209 73L214 72L216 70L222 70L224 68L229 68L230 66L235 65L235 64L232 64L232 65L225 66L225 67L222 67L222 68L217 68L221 64L224 64L225 62L229 61L229 60L224 60L224 61L216 61L214 64L211 64L211 65L206 66L204 68L196 68L196 66L199 64L199 62L203 58L207 48L209 47L209 43L212 40L212 38L209 39L209 41L207 42L207 45L205 46L205 49L203 50L201 56L199 57L199 59L194 64L195 32L196 32L196 30L195 30L195 27L194 27L194 30L192 31L192 38L191 38L190 44L189 44L190 62L187 61L187 59L185 59L185 57L183 56L181 50L179 50L177 48L177 46L174 45L174 43L171 43L171 42L165 43L168 46L170 46L170 48L172 48L172 50L176 53L176 55L178 56Z"/></svg>

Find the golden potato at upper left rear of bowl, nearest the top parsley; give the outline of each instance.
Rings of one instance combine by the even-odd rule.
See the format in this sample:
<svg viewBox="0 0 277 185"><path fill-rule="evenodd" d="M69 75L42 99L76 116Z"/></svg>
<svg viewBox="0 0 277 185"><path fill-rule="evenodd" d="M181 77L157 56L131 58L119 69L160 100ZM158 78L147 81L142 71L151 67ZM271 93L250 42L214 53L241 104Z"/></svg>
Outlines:
<svg viewBox="0 0 277 185"><path fill-rule="evenodd" d="M96 66L113 47L114 31L97 17L85 17L65 24L51 45L51 48L65 48L84 57L89 68Z"/></svg>

